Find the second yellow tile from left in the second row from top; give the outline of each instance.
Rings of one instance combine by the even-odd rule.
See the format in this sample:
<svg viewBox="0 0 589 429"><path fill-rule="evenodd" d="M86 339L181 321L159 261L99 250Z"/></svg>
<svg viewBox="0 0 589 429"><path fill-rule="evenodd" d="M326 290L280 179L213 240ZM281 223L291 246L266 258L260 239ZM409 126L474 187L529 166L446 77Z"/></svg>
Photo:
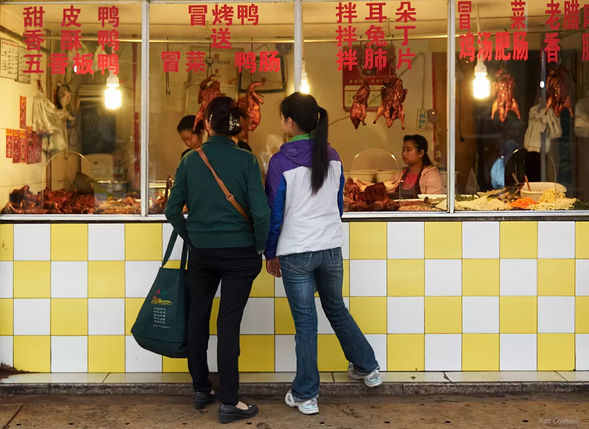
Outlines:
<svg viewBox="0 0 589 429"><path fill-rule="evenodd" d="M125 261L88 261L88 298L125 298Z"/></svg>

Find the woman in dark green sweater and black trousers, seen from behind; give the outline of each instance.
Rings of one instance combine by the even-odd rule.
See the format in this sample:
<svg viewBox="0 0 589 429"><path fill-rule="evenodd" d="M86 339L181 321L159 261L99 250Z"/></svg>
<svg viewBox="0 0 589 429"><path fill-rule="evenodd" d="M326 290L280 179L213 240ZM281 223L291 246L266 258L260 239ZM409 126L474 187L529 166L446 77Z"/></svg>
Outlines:
<svg viewBox="0 0 589 429"><path fill-rule="evenodd" d="M270 209L256 157L239 149L233 140L241 132L242 117L243 112L231 98L211 101L204 121L210 137L201 150L249 221L227 200L196 150L180 161L166 205L166 217L174 230L183 239L190 239L187 348L197 409L217 399L211 390L207 346L211 307L221 282L217 317L221 423L253 417L258 411L256 405L248 406L237 398L239 334L252 283L262 270ZM187 219L182 215L184 204L188 207Z"/></svg>

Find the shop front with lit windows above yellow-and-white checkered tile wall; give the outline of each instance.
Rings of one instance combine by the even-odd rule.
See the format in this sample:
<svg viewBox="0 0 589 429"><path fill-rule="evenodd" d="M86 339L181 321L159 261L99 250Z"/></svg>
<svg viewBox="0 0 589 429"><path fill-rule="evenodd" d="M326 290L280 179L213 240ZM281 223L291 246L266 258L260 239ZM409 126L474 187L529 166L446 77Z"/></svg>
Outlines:
<svg viewBox="0 0 589 429"><path fill-rule="evenodd" d="M343 295L382 371L589 370L584 4L111 3L0 1L2 364L187 371L130 334L206 138L177 124L237 98L264 176L276 105L304 91L344 165ZM346 371L316 300L319 370ZM294 334L263 270L241 371L293 372Z"/></svg>

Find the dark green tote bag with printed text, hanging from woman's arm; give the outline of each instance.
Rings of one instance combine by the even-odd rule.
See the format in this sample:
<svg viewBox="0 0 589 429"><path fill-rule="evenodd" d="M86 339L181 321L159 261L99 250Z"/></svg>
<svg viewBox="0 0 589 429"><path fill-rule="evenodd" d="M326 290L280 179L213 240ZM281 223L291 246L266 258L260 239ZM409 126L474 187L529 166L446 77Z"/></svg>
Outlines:
<svg viewBox="0 0 589 429"><path fill-rule="evenodd" d="M178 234L172 232L166 255L141 306L131 334L141 347L169 358L186 358L188 296L184 286L188 239L184 240L180 269L164 268L170 259Z"/></svg>

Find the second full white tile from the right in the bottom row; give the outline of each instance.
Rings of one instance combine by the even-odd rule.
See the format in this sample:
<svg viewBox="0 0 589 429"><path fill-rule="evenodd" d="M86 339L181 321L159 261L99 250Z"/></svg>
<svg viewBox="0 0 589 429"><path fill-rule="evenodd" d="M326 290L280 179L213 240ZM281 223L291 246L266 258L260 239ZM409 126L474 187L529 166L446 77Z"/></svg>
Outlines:
<svg viewBox="0 0 589 429"><path fill-rule="evenodd" d="M425 371L460 371L461 369L461 334L425 334Z"/></svg>

